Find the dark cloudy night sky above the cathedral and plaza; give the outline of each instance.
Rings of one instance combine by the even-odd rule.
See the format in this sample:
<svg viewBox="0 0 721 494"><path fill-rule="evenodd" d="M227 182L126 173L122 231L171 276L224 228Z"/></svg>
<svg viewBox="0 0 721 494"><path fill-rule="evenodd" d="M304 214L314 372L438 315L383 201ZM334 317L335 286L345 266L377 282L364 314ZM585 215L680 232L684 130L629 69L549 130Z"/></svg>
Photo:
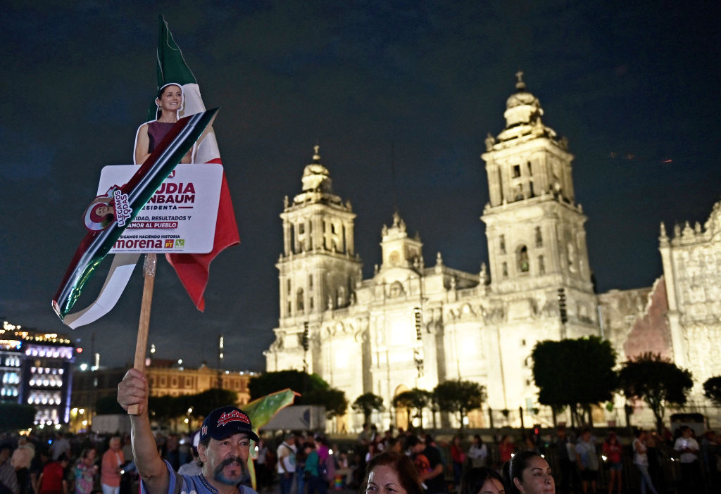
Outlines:
<svg viewBox="0 0 721 494"><path fill-rule="evenodd" d="M283 196L301 191L316 143L358 214L366 277L396 205L426 264L441 251L448 266L478 272L488 200L479 155L486 134L503 130L519 70L576 156L601 292L650 286L662 273L659 223L704 223L720 199L712 2L130 3L0 6L0 317L70 333L86 360L94 332L101 364L132 361L140 269L93 325L67 328L50 300L100 169L132 162L154 97L158 14L206 106L221 107L214 127L242 239L213 262L205 313L162 260L149 338L159 357L214 366L224 333L227 367L265 368L278 324L278 214Z"/></svg>

